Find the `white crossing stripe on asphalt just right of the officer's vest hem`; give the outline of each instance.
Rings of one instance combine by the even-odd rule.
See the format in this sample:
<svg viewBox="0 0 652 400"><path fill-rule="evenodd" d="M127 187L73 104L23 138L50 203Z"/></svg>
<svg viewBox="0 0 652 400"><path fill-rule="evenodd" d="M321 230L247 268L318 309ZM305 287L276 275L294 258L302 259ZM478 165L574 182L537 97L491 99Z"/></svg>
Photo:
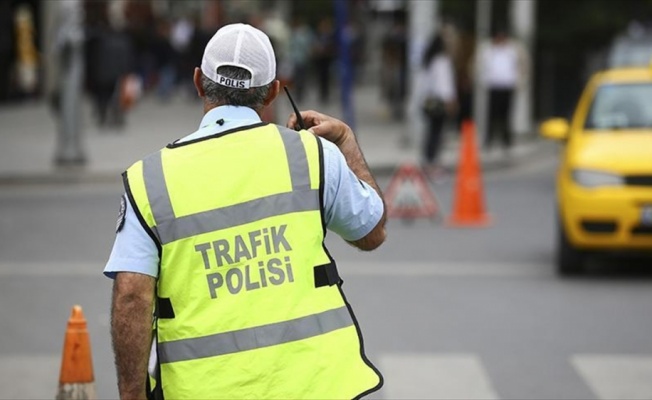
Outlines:
<svg viewBox="0 0 652 400"><path fill-rule="evenodd" d="M478 357L471 354L385 354L387 399L498 399Z"/></svg>

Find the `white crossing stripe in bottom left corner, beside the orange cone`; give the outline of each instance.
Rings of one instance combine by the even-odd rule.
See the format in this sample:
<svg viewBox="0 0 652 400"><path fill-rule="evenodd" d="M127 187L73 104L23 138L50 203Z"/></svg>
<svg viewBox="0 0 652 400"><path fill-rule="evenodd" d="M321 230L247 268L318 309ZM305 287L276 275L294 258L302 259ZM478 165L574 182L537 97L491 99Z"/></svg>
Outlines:
<svg viewBox="0 0 652 400"><path fill-rule="evenodd" d="M0 399L53 399L61 356L0 356Z"/></svg>

